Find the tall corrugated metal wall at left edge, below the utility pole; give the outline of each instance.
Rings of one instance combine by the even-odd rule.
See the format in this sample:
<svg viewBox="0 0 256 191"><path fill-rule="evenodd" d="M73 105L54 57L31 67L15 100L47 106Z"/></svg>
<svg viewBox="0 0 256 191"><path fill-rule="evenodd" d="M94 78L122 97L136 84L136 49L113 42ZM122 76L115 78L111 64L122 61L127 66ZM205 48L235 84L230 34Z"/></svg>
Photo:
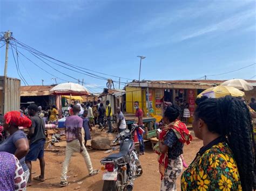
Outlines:
<svg viewBox="0 0 256 191"><path fill-rule="evenodd" d="M21 80L0 76L0 114L19 110Z"/></svg>

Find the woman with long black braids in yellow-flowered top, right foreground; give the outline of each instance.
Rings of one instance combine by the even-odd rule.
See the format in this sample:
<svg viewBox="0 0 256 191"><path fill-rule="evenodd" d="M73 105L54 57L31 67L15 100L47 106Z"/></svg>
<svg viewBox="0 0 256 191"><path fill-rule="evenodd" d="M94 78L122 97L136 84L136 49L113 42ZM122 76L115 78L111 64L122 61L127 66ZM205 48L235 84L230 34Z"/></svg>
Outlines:
<svg viewBox="0 0 256 191"><path fill-rule="evenodd" d="M253 190L255 144L246 104L231 96L196 103L193 130L204 146L181 176L181 189Z"/></svg>

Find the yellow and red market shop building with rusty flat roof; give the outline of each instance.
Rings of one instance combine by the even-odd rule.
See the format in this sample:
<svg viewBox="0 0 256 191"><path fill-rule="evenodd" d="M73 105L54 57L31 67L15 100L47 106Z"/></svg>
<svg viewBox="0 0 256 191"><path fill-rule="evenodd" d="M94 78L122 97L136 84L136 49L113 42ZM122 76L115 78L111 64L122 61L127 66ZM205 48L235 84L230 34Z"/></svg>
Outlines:
<svg viewBox="0 0 256 191"><path fill-rule="evenodd" d="M133 108L134 101L138 101L144 115L163 116L162 101L176 103L184 107L188 103L188 109L191 113L190 122L195 109L195 100L197 95L203 90L217 86L225 80L169 80L169 81L133 81L125 87L126 93L126 111L135 113ZM252 86L256 86L255 80L246 80ZM251 97L256 96L256 88L251 91L245 91L247 103L250 103Z"/></svg>

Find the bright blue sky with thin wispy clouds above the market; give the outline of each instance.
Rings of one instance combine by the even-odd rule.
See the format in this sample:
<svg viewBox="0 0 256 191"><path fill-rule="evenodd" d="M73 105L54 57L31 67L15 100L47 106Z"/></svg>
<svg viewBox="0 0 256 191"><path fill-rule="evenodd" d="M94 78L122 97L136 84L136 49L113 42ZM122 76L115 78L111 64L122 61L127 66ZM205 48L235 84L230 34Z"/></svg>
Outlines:
<svg viewBox="0 0 256 191"><path fill-rule="evenodd" d="M2 0L0 11L0 32L11 30L17 40L38 51L98 72L138 79L137 55L145 55L141 79L190 80L209 75L207 79L254 76L256 80L255 65L210 76L256 62L255 1ZM20 51L52 74L74 81ZM4 54L2 47L0 75ZM42 79L44 84L53 82L51 75L23 56L21 62L30 85L41 84ZM92 91L105 87L103 80L56 68L84 79ZM11 51L8 76L18 77Z"/></svg>

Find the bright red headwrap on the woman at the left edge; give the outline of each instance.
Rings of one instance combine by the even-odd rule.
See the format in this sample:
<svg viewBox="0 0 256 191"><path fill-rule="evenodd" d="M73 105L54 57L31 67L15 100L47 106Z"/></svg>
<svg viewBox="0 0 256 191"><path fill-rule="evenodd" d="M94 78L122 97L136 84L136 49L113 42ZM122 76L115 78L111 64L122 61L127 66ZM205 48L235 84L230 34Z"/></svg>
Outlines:
<svg viewBox="0 0 256 191"><path fill-rule="evenodd" d="M31 120L19 111L9 111L4 115L5 123L30 128Z"/></svg>

